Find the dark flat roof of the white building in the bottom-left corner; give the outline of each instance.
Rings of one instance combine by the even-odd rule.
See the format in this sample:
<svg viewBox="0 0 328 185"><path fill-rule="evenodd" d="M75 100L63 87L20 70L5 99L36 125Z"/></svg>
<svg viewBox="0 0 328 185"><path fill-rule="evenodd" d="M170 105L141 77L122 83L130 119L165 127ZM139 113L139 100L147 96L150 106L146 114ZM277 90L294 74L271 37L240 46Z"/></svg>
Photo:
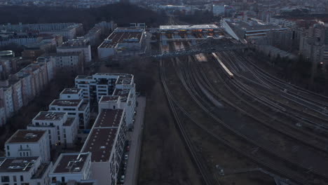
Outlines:
<svg viewBox="0 0 328 185"><path fill-rule="evenodd" d="M29 172L39 157L0 158L0 172Z"/></svg>

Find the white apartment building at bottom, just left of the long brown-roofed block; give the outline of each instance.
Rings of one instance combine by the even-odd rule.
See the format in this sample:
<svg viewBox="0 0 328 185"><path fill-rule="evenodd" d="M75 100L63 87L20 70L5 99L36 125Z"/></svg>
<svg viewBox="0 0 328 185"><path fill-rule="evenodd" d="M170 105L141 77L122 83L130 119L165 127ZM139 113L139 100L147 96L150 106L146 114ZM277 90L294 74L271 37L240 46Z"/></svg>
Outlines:
<svg viewBox="0 0 328 185"><path fill-rule="evenodd" d="M69 181L83 182L91 179L91 153L61 153L49 174L50 184Z"/></svg>

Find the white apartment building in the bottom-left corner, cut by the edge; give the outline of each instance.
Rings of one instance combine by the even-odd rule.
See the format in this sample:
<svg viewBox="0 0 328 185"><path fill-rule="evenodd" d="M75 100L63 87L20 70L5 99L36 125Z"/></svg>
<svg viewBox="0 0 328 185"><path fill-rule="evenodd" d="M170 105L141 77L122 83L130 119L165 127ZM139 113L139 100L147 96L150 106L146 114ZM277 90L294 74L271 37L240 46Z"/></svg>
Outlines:
<svg viewBox="0 0 328 185"><path fill-rule="evenodd" d="M0 158L0 184L49 185L52 163L40 157Z"/></svg>

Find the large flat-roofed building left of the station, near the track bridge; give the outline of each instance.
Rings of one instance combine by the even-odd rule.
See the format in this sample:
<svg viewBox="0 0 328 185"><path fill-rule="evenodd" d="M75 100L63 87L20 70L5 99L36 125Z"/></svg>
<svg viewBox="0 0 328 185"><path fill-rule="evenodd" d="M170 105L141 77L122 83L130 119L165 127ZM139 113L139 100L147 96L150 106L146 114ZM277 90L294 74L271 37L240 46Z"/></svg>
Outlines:
<svg viewBox="0 0 328 185"><path fill-rule="evenodd" d="M142 48L144 42L144 29L136 27L118 27L98 47L100 59L127 53L136 52Z"/></svg>

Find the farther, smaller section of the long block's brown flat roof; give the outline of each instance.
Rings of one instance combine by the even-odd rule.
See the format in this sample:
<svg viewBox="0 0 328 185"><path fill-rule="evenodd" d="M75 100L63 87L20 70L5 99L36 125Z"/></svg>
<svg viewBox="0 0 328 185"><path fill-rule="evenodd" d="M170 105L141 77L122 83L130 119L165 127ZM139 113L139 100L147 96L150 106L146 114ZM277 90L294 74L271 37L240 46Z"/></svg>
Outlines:
<svg viewBox="0 0 328 185"><path fill-rule="evenodd" d="M95 121L95 128L117 128L123 116L123 109L102 109Z"/></svg>

